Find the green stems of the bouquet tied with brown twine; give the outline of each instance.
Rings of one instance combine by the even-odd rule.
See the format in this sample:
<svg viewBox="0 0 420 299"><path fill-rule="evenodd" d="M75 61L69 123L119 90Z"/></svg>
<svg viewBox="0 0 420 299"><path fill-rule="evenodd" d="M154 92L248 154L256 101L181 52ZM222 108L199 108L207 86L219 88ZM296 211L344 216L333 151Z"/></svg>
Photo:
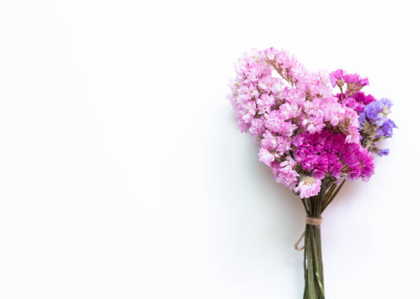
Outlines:
<svg viewBox="0 0 420 299"><path fill-rule="evenodd" d="M336 197L345 181L337 185L336 179L323 179L318 195L303 198L307 219L321 219L321 214ZM308 221L307 221L308 222ZM319 221L320 222L320 221ZM324 299L323 255L321 252L320 225L307 223L305 226L305 291L303 299Z"/></svg>

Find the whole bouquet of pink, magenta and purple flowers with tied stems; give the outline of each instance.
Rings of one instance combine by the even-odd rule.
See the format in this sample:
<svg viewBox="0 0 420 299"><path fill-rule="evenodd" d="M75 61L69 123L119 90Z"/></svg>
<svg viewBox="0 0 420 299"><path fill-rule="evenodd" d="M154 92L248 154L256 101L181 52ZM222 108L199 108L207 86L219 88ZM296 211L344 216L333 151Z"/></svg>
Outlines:
<svg viewBox="0 0 420 299"><path fill-rule="evenodd" d="M259 145L259 160L277 183L299 196L305 232L303 298L325 298L320 223L347 180L369 181L378 142L393 135L389 99L362 92L367 78L345 70L310 73L287 51L244 54L235 66L228 98L237 125ZM299 242L305 237L304 246Z"/></svg>

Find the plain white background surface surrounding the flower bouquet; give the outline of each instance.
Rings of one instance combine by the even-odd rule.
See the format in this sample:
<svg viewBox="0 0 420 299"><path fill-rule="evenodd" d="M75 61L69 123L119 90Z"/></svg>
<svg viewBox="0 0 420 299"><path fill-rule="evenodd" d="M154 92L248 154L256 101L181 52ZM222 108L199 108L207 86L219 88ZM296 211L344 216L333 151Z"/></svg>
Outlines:
<svg viewBox="0 0 420 299"><path fill-rule="evenodd" d="M0 3L1 298L301 298L303 208L225 98L271 46L395 102L324 214L327 298L418 296L415 1Z"/></svg>

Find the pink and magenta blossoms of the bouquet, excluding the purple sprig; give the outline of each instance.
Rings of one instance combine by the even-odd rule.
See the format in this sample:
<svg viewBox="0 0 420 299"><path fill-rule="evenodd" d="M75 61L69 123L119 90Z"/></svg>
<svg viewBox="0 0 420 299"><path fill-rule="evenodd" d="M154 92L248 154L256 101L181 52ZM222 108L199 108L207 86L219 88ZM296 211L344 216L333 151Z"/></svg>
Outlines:
<svg viewBox="0 0 420 299"><path fill-rule="evenodd" d="M286 51L252 51L240 58L228 98L243 132L260 145L259 159L275 180L301 198L315 196L325 177L369 179L373 157L362 148L358 113L333 94L356 75L310 73ZM332 86L331 86L332 84Z"/></svg>

